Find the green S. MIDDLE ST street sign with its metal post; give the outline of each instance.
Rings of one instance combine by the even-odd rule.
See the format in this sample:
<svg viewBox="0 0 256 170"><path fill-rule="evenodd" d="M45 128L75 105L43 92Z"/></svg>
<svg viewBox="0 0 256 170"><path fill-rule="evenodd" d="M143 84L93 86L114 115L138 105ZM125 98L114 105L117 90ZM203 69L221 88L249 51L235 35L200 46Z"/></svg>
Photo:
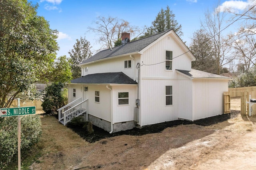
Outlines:
<svg viewBox="0 0 256 170"><path fill-rule="evenodd" d="M1 108L0 117L18 116L18 170L21 170L20 161L20 115L36 114L36 106L20 107L20 98L18 98L18 107Z"/></svg>

